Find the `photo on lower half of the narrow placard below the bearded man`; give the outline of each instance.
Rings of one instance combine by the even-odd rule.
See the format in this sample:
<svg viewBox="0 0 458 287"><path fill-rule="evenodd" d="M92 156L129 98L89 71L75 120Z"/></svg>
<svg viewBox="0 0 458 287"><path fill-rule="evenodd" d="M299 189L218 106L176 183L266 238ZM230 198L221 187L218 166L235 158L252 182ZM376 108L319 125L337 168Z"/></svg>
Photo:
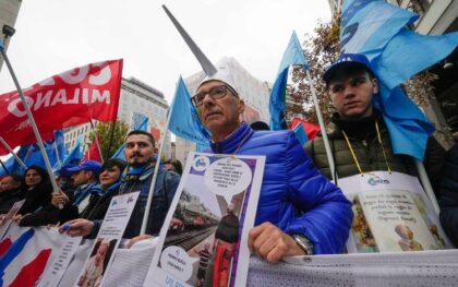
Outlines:
<svg viewBox="0 0 458 287"><path fill-rule="evenodd" d="M83 268L83 273L77 279L76 285L82 287L100 286L107 270L110 258L113 254L117 240L107 240L97 238L93 250L91 251L89 260Z"/></svg>

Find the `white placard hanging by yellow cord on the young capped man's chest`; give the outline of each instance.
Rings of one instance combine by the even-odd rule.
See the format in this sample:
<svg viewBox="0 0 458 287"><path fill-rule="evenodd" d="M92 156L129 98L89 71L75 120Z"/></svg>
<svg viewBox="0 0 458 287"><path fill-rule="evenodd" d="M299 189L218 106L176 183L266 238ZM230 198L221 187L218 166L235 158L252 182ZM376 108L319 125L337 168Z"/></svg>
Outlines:
<svg viewBox="0 0 458 287"><path fill-rule="evenodd" d="M339 179L352 203L349 253L451 248L415 177L376 171Z"/></svg>

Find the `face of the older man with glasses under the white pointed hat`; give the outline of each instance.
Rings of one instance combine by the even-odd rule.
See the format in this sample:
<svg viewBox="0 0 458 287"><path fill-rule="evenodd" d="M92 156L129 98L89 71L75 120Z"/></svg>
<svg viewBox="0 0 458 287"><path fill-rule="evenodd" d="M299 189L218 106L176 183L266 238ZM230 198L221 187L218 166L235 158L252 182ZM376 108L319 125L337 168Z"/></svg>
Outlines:
<svg viewBox="0 0 458 287"><path fill-rule="evenodd" d="M225 85L221 81L206 82L198 87L196 94L208 93L212 88L221 85ZM197 110L202 122L212 132L214 139L224 140L239 127L239 116L243 113L244 103L227 89L226 96L218 99L206 95Z"/></svg>

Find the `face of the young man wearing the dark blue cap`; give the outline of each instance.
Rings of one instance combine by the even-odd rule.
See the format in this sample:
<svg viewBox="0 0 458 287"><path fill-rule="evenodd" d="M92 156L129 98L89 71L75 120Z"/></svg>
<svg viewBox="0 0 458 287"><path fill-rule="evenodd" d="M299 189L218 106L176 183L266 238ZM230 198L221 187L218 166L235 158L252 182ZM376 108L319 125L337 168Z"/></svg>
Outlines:
<svg viewBox="0 0 458 287"><path fill-rule="evenodd" d="M367 72L350 76L337 75L329 82L329 94L334 107L343 119L365 118L372 115L372 97L378 93L377 80Z"/></svg>

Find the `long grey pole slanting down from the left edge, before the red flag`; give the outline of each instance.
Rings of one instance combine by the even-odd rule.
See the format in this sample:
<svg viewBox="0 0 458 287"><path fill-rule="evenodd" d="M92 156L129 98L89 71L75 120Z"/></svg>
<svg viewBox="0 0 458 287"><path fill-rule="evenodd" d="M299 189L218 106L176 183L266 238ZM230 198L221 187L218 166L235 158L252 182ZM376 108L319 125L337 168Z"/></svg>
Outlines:
<svg viewBox="0 0 458 287"><path fill-rule="evenodd" d="M31 108L28 107L28 104L25 100L24 93L22 92L22 88L21 88L21 85L20 85L20 83L17 81L17 77L14 74L14 71L13 71L13 68L11 67L10 60L8 59L7 53L4 52L4 49L3 49L3 47L1 45L0 45L0 52L1 52L1 56L3 57L4 62L7 63L8 70L10 71L11 77L13 79L14 85L16 86L17 93L19 93L19 95L21 97L21 100L22 100L22 104L24 106L24 109L25 109L25 111L27 113L28 121L31 122L32 130L34 131L35 137L37 139L37 144L39 146L39 151L41 152L43 159L45 160L46 169L48 170L48 174L49 174L49 178L51 180L53 192L57 192L60 189L59 189L59 187L57 184L56 178L53 177L51 163L49 162L48 154L46 153L45 145L43 144L41 135L39 134L37 124L35 123L34 116L32 115ZM59 208L60 210L62 207L63 206L59 205Z"/></svg>

